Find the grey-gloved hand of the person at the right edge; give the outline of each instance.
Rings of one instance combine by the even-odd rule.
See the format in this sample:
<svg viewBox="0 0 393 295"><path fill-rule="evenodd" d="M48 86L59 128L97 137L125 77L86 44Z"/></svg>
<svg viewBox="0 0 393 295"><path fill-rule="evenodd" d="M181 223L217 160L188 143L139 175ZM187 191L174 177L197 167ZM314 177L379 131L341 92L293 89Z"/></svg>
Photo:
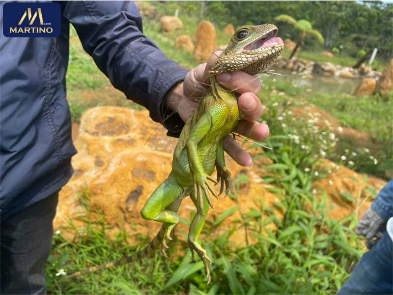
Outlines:
<svg viewBox="0 0 393 295"><path fill-rule="evenodd" d="M375 244L376 240L381 238L383 233L386 232L386 222L387 220L382 218L373 209L368 208L365 210L365 213L363 213L356 226L356 234L366 237L365 244L368 249L370 249Z"/></svg>

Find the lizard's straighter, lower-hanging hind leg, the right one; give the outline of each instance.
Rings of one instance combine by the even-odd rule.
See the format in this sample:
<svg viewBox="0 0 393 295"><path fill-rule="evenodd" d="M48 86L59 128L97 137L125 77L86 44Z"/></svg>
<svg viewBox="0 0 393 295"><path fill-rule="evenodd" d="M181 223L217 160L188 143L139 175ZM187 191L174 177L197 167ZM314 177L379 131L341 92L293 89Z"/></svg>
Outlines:
<svg viewBox="0 0 393 295"><path fill-rule="evenodd" d="M203 194L204 195L204 194ZM194 205L197 208L200 208L199 206L199 200L195 197L195 193L192 192L190 194L191 200L193 201ZM194 260L194 250L197 252L198 256L202 259L203 264L205 265L206 273L207 273L207 283L210 284L210 269L209 265L207 262L210 264L212 263L211 259L209 256L207 256L207 252L205 249L202 248L202 246L199 244L197 241L198 236L200 232L202 231L203 225L205 224L206 220L206 214L207 211L209 210L209 204L206 202L206 196L203 196L203 212L201 210L197 210L197 214L195 214L193 221L191 222L190 225L190 230L188 233L188 245L191 249L191 255L192 255L192 260Z"/></svg>

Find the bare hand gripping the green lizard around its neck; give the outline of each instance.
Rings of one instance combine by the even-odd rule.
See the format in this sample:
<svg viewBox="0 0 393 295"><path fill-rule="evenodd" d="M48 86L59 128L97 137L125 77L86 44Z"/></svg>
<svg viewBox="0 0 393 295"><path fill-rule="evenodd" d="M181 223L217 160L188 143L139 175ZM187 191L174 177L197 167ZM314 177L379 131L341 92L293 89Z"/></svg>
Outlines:
<svg viewBox="0 0 393 295"><path fill-rule="evenodd" d="M166 106L169 110L176 111L183 121L188 120L209 87L208 72L220 54L221 51L215 52L207 63L199 64L191 70L184 82L167 94ZM253 140L264 140L269 135L269 127L255 121L263 113L263 106L256 96L261 89L259 79L240 71L218 74L216 78L225 89L241 94L238 99L241 120L233 131ZM224 149L239 165L252 165L251 155L232 137L225 138Z"/></svg>

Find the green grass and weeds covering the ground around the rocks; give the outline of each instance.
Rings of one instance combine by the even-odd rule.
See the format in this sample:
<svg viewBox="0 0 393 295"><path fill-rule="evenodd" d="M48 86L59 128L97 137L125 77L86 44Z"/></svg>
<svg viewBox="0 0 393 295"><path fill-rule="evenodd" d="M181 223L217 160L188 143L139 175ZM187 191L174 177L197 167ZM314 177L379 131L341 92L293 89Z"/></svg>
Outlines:
<svg viewBox="0 0 393 295"><path fill-rule="evenodd" d="M146 20L144 32L151 37L170 59L186 67L196 63L190 53L174 49L178 34L194 34L195 19L182 17L184 29L176 33L162 34L155 21ZM227 36L218 33L222 44ZM221 43L220 43L221 44ZM87 108L98 105L120 105L140 109L126 101L124 95L113 89L108 79L88 57L74 30L71 31L70 64L67 74L68 99L74 121L80 119ZM301 57L312 57L301 53ZM338 61L338 60L337 60ZM339 60L341 61L341 60ZM348 61L348 64L352 63ZM270 79L271 81L271 79ZM317 198L312 191L313 181L325 177L318 170L318 160L326 157L341 165L358 171L388 178L392 168L392 118L393 98L385 100L378 96L354 97L352 95L331 96L326 93L309 93L292 84L267 82L260 95L266 106L262 120L266 121L272 136L264 143L274 147L263 156L274 164L261 167L273 171L277 177L266 177L264 182L272 184L271 191L277 195L283 218L274 214L273 207L259 204L250 212L244 212L241 226L253 230L258 242L233 249L228 237L236 231L236 224L223 236L215 240L206 239L203 246L213 258L212 284L206 284L205 271L200 260L191 263L189 250L186 255L176 256L179 249L186 249L181 242L172 243L170 260L158 253L151 258L130 266L120 266L102 272L90 273L57 283L63 272L71 273L86 266L102 265L130 256L147 243L140 236L140 247L127 244L127 234L121 232L114 240L108 236L109 225L101 217L92 222L89 214L100 214L89 206L89 193L81 192L80 202L87 210L79 219L84 229L75 229L75 239L70 242L60 233L53 240L53 250L47 265L49 294L333 294L348 278L354 264L360 259L365 247L354 234L357 223L355 214L336 221L328 217L332 208L326 206L326 195ZM329 112L338 118L342 126L352 127L370 135L368 143L348 142L333 138L331 130L315 130L312 122L293 119L291 106L304 107L309 104ZM348 153L356 152L355 159L339 161ZM304 147L308 147L305 149ZM365 149L370 151L361 152ZM321 152L322 151L322 152ZM377 163L372 156L377 159ZM352 161L353 160L353 161ZM351 165L349 162L354 162ZM306 169L306 168L311 169ZM318 173L316 173L318 172ZM366 176L364 178L364 181ZM247 179L238 179L247 181ZM234 192L236 194L236 191ZM376 192L370 190L372 197ZM355 207L359 200L354 200ZM233 212L232 212L233 213ZM226 212L225 216L231 212ZM264 218L262 218L264 217ZM266 219L266 217L268 217ZM183 221L189 222L189 221ZM267 224L275 224L270 231ZM214 231L207 221L204 231ZM70 228L72 228L70 224ZM186 233L181 233L186 235Z"/></svg>

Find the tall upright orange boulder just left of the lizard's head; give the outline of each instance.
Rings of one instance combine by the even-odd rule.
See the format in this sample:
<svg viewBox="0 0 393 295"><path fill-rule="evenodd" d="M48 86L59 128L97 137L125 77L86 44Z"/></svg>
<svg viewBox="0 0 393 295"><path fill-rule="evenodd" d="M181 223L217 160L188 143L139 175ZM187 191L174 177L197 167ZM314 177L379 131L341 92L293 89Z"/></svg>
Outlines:
<svg viewBox="0 0 393 295"><path fill-rule="evenodd" d="M216 49L217 36L214 25L207 21L199 23L195 39L194 60L205 62Z"/></svg>

